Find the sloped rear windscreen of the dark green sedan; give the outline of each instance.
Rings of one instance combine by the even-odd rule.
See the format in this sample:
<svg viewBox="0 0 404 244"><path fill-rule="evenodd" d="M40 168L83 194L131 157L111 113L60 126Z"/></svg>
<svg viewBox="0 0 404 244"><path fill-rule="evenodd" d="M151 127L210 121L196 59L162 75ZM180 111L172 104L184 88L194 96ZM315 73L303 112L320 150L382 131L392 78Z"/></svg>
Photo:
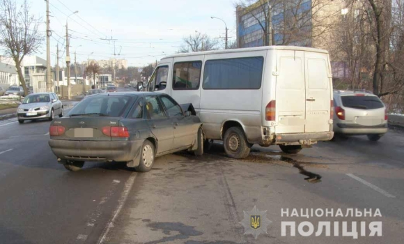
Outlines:
<svg viewBox="0 0 404 244"><path fill-rule="evenodd" d="M136 96L95 96L79 102L70 110L69 116L121 117Z"/></svg>

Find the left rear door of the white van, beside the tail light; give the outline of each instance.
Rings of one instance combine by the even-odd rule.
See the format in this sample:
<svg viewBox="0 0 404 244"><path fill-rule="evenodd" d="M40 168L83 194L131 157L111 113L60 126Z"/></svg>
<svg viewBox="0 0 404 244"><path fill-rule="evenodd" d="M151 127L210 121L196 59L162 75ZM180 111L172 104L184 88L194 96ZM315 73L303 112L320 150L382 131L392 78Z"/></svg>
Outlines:
<svg viewBox="0 0 404 244"><path fill-rule="evenodd" d="M277 133L303 133L306 93L304 52L277 51L276 115Z"/></svg>

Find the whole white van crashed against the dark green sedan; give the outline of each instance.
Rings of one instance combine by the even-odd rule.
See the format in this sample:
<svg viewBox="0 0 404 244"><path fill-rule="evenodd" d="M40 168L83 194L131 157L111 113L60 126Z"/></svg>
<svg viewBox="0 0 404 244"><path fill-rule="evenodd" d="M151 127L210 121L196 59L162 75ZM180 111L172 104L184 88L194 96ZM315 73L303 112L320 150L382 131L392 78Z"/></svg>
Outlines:
<svg viewBox="0 0 404 244"><path fill-rule="evenodd" d="M269 46L174 54L158 63L146 91L192 103L205 139L245 158L253 144L297 153L332 139L327 51Z"/></svg>

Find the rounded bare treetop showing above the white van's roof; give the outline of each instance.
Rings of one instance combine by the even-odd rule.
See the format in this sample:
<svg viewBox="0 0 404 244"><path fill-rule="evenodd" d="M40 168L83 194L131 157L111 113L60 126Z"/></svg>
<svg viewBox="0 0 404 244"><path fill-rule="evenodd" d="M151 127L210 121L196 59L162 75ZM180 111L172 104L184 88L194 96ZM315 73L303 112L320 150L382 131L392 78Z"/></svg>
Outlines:
<svg viewBox="0 0 404 244"><path fill-rule="evenodd" d="M184 41L184 44L179 52L201 52L217 49L217 40L199 32L194 36L189 35L182 40Z"/></svg>

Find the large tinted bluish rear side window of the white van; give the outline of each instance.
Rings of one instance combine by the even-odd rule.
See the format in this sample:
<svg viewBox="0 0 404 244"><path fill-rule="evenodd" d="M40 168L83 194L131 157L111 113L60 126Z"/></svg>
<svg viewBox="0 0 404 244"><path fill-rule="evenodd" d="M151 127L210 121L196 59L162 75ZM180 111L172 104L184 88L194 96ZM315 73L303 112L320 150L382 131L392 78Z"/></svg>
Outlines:
<svg viewBox="0 0 404 244"><path fill-rule="evenodd" d="M262 56L216 59L205 62L203 89L260 89Z"/></svg>

